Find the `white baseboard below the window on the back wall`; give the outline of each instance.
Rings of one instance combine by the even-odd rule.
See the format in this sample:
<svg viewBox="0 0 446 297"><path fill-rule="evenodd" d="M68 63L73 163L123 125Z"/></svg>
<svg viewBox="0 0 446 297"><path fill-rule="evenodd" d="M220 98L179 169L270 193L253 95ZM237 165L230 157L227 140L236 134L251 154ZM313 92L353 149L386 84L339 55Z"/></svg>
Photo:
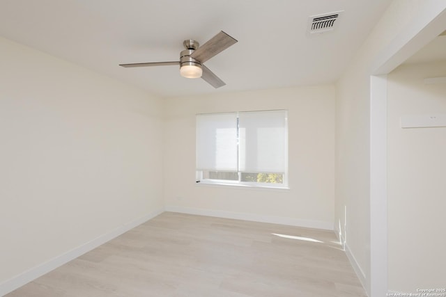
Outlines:
<svg viewBox="0 0 446 297"><path fill-rule="evenodd" d="M232 211L218 211L210 209L197 209L192 207L166 207L166 211L179 212L183 214L197 214L199 216L216 216L218 218L233 218L237 220L252 220L261 223L273 223L291 225L297 227L308 227L323 230L334 230L334 223L321 220L302 220L298 218L286 218L282 216L264 216L261 214L245 214Z"/></svg>

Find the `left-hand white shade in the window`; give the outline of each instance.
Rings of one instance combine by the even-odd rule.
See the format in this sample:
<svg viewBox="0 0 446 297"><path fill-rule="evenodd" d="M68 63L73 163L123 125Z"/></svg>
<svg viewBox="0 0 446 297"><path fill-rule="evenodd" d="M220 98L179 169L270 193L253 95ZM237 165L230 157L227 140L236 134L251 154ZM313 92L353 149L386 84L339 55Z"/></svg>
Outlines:
<svg viewBox="0 0 446 297"><path fill-rule="evenodd" d="M237 114L197 115L197 170L237 171Z"/></svg>

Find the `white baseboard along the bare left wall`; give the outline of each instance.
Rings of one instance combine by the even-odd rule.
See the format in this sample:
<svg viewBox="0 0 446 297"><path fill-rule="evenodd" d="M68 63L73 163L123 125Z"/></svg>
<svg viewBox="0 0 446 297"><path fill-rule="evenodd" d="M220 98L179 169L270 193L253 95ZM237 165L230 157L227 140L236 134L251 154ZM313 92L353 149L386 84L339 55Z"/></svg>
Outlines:
<svg viewBox="0 0 446 297"><path fill-rule="evenodd" d="M89 241L87 243L82 244L82 246L78 246L77 248L73 248L68 252L63 253L49 261L40 264L34 268L25 271L24 273L20 273L20 275L16 275L10 280L6 280L0 284L0 296L6 295L15 289L22 287L24 284L35 280L36 278L48 273L49 271L54 270L55 268L70 262L72 259L76 259L79 256L84 255L86 252L93 250L93 248L97 248L98 246L106 243L114 239L115 237L127 232L128 230L141 225L142 223L154 218L155 216L162 214L164 209L158 209L157 211L153 211L151 214L147 214L146 216L142 216L141 218L137 218L128 223L125 223L111 232L107 232L106 234L102 234L101 236Z"/></svg>

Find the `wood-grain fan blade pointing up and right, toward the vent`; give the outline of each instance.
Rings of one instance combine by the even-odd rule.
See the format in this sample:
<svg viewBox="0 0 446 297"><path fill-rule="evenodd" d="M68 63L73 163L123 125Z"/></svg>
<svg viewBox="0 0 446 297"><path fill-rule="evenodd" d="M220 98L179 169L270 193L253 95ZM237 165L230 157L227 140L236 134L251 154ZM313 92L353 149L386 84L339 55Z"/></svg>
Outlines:
<svg viewBox="0 0 446 297"><path fill-rule="evenodd" d="M210 40L208 40L204 45L194 51L190 57L194 58L200 63L204 63L236 42L237 40L223 31L220 31L220 33L215 35L213 38L210 38Z"/></svg>

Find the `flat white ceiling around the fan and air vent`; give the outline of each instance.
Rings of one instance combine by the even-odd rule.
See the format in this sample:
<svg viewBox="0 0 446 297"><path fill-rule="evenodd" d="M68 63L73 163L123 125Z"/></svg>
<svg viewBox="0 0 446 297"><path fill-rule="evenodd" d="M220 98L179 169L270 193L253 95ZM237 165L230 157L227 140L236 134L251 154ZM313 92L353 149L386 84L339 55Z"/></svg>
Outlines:
<svg viewBox="0 0 446 297"><path fill-rule="evenodd" d="M391 0L1 0L0 35L162 97L332 83ZM310 15L344 10L332 33ZM219 31L236 45L206 62L226 86L180 77L183 40Z"/></svg>

